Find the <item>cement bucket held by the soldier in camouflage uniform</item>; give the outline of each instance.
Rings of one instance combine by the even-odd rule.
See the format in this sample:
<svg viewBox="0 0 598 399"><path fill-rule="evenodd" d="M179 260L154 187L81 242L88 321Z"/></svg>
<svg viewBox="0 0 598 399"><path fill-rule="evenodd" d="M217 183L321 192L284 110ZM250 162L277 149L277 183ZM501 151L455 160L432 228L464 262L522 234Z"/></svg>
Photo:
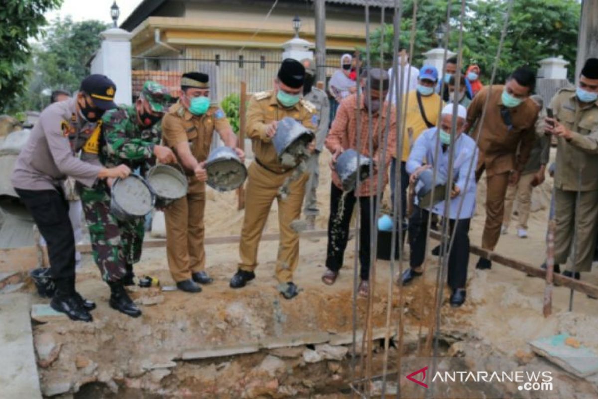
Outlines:
<svg viewBox="0 0 598 399"><path fill-rule="evenodd" d="M176 167L155 165L148 170L145 181L155 194L155 206L166 208L179 198L187 195L189 183L185 175Z"/></svg>

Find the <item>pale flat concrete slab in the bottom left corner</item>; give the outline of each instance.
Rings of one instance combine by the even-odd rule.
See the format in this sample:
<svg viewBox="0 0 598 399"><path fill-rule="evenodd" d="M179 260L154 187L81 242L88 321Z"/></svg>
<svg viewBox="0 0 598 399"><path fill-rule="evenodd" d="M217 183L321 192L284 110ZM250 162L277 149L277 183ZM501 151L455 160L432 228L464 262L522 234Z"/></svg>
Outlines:
<svg viewBox="0 0 598 399"><path fill-rule="evenodd" d="M30 296L0 296L0 396L41 399L29 318Z"/></svg>

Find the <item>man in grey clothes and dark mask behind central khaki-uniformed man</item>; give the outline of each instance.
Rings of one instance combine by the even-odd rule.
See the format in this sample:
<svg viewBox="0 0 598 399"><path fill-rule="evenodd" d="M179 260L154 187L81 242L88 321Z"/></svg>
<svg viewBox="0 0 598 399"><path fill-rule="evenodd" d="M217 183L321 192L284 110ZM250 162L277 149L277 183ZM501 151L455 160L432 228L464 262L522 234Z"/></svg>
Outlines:
<svg viewBox="0 0 598 399"><path fill-rule="evenodd" d="M310 229L315 228L316 217L320 214L318 209L318 184L320 179L319 158L322 149L324 149L324 141L328 135L328 127L330 124L330 101L328 95L324 90L313 86L316 79L316 63L309 58L301 60L305 67L305 83L303 85L303 98L312 103L316 107L316 112L312 117L313 124L318 127L316 130L316 151L307 161L307 168L309 170L309 179L305 187L305 205L303 206L303 213L306 215L307 222Z"/></svg>

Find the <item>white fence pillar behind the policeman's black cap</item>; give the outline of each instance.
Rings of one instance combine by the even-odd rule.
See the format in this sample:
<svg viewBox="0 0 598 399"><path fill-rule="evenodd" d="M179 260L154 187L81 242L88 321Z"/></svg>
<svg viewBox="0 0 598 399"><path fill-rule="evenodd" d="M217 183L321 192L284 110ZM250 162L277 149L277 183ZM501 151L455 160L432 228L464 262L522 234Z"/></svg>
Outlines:
<svg viewBox="0 0 598 399"><path fill-rule="evenodd" d="M100 33L103 41L91 61L91 73L102 74L116 84L114 102L131 103L131 33L111 28Z"/></svg>

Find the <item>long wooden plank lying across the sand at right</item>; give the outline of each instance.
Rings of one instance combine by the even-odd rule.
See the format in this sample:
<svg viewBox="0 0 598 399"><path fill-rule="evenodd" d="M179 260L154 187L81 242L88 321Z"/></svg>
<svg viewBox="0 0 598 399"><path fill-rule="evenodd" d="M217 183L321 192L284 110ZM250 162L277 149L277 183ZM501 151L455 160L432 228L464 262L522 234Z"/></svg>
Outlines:
<svg viewBox="0 0 598 399"><path fill-rule="evenodd" d="M430 232L430 237L435 240L440 240L440 233ZM540 269L532 264L525 263L519 260L507 258L496 252L487 251L477 245L470 245L469 252L474 255L478 255L481 258L486 258L502 266L510 267L511 269L519 270L520 272L527 273L530 277L537 277L544 279L545 270ZM553 275L553 281L555 285L562 285L563 287L572 288L575 291L584 293L589 296L598 297L598 287L595 285L588 284L587 282L571 279L560 274Z"/></svg>

